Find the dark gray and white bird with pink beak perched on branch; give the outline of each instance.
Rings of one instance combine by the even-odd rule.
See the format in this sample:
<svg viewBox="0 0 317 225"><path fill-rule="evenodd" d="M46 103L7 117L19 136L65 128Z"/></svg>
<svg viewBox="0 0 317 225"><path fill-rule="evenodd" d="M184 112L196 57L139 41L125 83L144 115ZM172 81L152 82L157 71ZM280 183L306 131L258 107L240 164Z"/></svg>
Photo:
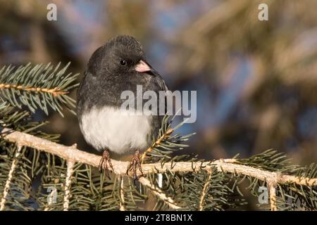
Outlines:
<svg viewBox="0 0 317 225"><path fill-rule="evenodd" d="M77 90L76 107L85 140L99 152L103 151L99 169L108 173L109 165L113 170L109 152L118 155L134 152L127 168L127 174L132 170L134 179L137 179L137 168L143 175L140 153L149 147L149 136L158 134L163 120L159 113L149 115L142 109L138 114L129 114L121 108L125 101L121 97L123 91L132 91L137 96L138 85L142 91L154 91L158 95L159 91L168 91L159 72L147 62L140 42L120 34L92 53ZM137 97L134 101L138 101Z"/></svg>

